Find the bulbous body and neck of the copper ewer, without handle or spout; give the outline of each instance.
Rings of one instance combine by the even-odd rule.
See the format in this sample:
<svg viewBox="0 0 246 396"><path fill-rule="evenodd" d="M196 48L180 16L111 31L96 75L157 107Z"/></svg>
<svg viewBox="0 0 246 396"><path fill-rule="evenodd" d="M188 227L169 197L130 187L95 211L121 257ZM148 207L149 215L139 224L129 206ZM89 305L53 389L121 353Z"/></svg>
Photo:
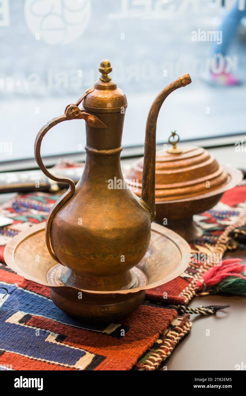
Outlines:
<svg viewBox="0 0 246 396"><path fill-rule="evenodd" d="M72 198L53 219L51 245L58 260L69 268L64 276L66 284L87 290L118 290L135 284L130 269L148 249L151 215L120 183L124 114L103 114L100 119L112 134L86 127L85 169ZM113 135L112 147L107 137ZM95 146L98 151L113 148L115 153L90 152Z"/></svg>

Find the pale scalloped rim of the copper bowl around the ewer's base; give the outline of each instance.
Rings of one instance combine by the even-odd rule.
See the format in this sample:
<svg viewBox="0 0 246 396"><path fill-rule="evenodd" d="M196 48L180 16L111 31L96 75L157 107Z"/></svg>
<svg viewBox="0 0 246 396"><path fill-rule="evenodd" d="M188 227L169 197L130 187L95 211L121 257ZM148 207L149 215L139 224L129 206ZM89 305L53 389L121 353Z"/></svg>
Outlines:
<svg viewBox="0 0 246 396"><path fill-rule="evenodd" d="M87 294L98 294L98 295L109 295L109 294L129 294L129 293L138 293L139 291L147 290L147 289L153 289L154 287L161 286L163 284L166 284L167 282L170 282L171 280L177 278L180 276L186 268L188 268L189 263L191 261L191 247L189 246L188 242L184 240L181 236L179 236L176 232L170 230L169 228L163 227L157 223L152 223L151 225L151 230L154 232L157 232L158 234L161 234L163 238L171 240L176 246L177 249L180 251L181 254L181 259L180 259L180 264L178 267L171 272L169 275L165 276L165 278L162 278L161 280L154 282L153 284L141 286L141 287L135 287L132 289L125 289L125 290L115 290L115 291L101 291L101 290L85 290L85 289L79 289L77 287L73 286L58 286L58 285L51 285L48 282L43 282L38 280L37 278L34 278L31 275L26 274L21 268L18 267L18 265L15 262L15 251L19 244L23 242L24 239L27 239L28 237L45 230L45 224L46 222L39 223L38 225L31 226L27 230L21 231L18 235L15 235L12 240L10 240L5 249L4 249L4 260L6 262L6 265L8 265L11 270L13 270L17 275L22 276L26 280L30 280L32 282L36 282L37 284L47 286L50 289L55 289L56 291L62 290L68 291L69 289L71 291L83 291L83 293ZM51 260L52 257L51 257ZM53 260L54 261L54 260ZM54 265L56 265L56 261L54 261ZM163 263L164 264L164 263ZM138 265L136 265L138 267ZM52 268L52 267L51 267Z"/></svg>

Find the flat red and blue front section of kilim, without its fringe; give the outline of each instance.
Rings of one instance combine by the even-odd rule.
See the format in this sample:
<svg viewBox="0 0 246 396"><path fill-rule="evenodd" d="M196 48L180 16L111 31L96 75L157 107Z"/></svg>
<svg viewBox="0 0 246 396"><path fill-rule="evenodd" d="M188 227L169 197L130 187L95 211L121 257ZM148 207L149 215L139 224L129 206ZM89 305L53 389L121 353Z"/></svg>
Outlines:
<svg viewBox="0 0 246 396"><path fill-rule="evenodd" d="M83 323L4 264L0 279L9 294L0 308L0 365L14 370L130 370L177 316L142 305L120 323Z"/></svg>

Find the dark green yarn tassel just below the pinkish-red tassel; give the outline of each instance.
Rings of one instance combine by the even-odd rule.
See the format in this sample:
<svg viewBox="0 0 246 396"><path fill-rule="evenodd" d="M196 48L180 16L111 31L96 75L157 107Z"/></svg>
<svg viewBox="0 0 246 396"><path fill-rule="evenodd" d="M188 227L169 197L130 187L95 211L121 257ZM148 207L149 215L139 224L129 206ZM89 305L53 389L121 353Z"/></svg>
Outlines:
<svg viewBox="0 0 246 396"><path fill-rule="evenodd" d="M246 277L246 273L242 275ZM216 293L230 293L234 295L246 294L246 280L238 276L229 276L211 290L211 294Z"/></svg>

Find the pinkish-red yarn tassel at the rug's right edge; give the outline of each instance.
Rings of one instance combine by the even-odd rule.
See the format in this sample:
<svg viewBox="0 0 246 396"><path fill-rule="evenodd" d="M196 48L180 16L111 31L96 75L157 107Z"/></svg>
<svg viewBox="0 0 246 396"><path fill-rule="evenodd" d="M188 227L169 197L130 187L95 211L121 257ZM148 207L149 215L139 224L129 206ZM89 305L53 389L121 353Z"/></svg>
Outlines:
<svg viewBox="0 0 246 396"><path fill-rule="evenodd" d="M201 280L197 282L195 287L198 290L203 289L206 286L215 286L220 283L223 279L227 278L228 276L237 276L242 279L246 278L242 276L242 272L244 272L246 265L240 265L241 259L228 259L223 260L220 266L216 266L208 270Z"/></svg>

